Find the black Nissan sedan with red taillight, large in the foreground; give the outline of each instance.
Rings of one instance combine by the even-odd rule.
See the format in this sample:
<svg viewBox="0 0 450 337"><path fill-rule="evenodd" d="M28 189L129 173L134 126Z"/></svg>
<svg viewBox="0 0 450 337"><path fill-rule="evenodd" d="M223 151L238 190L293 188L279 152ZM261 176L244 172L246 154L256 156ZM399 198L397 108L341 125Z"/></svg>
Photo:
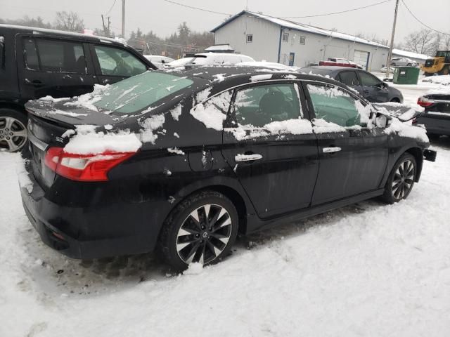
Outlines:
<svg viewBox="0 0 450 337"><path fill-rule="evenodd" d="M72 258L156 249L176 270L238 233L400 201L435 155L340 82L279 70L146 72L27 110L20 187L41 239Z"/></svg>

